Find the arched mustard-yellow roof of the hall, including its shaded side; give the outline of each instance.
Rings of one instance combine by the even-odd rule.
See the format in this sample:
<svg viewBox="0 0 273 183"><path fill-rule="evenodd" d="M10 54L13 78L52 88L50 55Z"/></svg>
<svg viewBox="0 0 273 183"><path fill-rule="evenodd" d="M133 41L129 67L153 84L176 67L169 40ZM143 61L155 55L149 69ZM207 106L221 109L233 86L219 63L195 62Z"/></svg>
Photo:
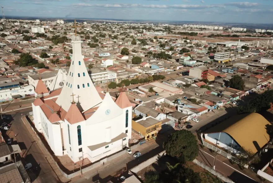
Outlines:
<svg viewBox="0 0 273 183"><path fill-rule="evenodd" d="M253 153L260 150L270 140L269 134L266 133L266 125L271 124L258 113L251 113L247 116L236 115L222 123L224 123L222 130L220 130L220 123L213 128L213 131L229 134L241 147Z"/></svg>

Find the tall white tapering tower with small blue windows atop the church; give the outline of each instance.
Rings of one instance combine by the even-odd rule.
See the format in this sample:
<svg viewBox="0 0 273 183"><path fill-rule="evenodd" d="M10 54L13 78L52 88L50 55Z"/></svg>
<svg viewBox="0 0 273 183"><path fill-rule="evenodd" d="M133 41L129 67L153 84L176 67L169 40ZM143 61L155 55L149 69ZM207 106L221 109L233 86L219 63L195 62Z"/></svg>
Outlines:
<svg viewBox="0 0 273 183"><path fill-rule="evenodd" d="M85 111L99 104L102 100L83 61L80 36L72 36L73 56L67 79L56 103L66 112L72 103L72 95L78 96L75 102L80 111Z"/></svg>

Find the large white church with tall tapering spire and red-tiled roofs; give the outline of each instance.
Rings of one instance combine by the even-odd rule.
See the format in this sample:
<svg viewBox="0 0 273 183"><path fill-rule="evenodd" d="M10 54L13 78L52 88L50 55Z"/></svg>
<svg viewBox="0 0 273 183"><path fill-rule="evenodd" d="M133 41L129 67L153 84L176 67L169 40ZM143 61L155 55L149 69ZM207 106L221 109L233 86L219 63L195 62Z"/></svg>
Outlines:
<svg viewBox="0 0 273 183"><path fill-rule="evenodd" d="M55 155L94 162L128 146L132 104L125 92L115 99L97 91L83 61L80 37L72 36L71 43L73 56L63 87L49 91L39 81L35 88L39 98L32 104L34 124Z"/></svg>

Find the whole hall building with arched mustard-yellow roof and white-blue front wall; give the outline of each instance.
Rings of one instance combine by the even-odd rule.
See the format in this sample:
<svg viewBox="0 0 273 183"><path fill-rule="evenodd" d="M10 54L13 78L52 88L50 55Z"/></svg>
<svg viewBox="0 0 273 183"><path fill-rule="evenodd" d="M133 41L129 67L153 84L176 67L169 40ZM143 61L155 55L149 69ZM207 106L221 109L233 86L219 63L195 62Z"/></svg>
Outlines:
<svg viewBox="0 0 273 183"><path fill-rule="evenodd" d="M266 128L271 124L260 114L251 113L231 117L201 134L205 141L230 152L244 150L257 153L269 142Z"/></svg>

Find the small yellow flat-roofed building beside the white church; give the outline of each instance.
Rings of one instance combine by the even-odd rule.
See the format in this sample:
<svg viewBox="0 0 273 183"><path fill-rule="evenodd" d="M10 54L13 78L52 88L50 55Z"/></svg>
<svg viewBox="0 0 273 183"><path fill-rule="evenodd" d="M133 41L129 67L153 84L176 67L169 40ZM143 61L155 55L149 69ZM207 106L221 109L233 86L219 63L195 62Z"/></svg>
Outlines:
<svg viewBox="0 0 273 183"><path fill-rule="evenodd" d="M161 121L151 116L137 121L132 120L132 129L145 136L145 139L156 136L157 132L161 130L161 125Z"/></svg>

